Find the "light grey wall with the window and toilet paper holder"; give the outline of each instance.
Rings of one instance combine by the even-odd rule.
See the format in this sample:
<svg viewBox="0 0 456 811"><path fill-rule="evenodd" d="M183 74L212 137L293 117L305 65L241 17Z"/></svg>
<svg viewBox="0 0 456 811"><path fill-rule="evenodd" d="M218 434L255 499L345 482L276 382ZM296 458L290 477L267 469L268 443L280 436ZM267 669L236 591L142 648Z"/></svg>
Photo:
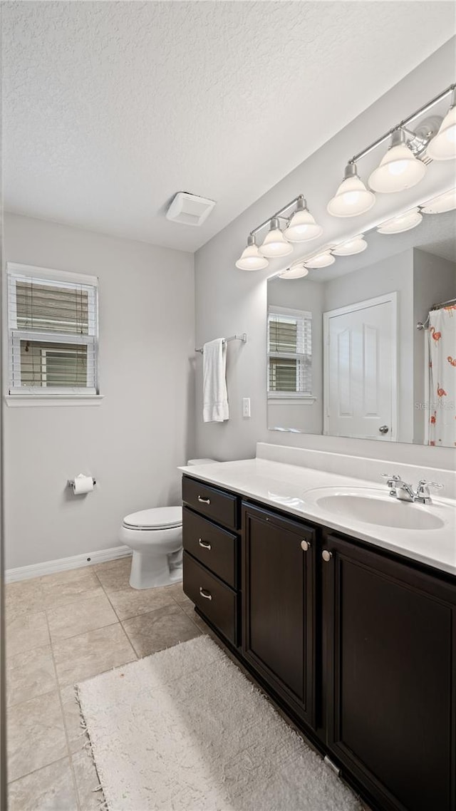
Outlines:
<svg viewBox="0 0 456 811"><path fill-rule="evenodd" d="M182 251L9 214L3 257L99 277L105 396L4 406L9 569L117 546L127 513L179 503L176 467L195 455L194 272ZM97 487L75 498L81 471Z"/></svg>

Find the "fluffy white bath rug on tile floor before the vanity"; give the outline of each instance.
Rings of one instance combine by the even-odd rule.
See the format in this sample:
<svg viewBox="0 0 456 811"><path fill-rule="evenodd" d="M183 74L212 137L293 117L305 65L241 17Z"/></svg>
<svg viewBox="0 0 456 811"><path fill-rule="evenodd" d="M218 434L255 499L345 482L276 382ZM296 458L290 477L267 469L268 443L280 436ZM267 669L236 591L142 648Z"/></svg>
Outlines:
<svg viewBox="0 0 456 811"><path fill-rule="evenodd" d="M209 637L78 685L109 811L360 811Z"/></svg>

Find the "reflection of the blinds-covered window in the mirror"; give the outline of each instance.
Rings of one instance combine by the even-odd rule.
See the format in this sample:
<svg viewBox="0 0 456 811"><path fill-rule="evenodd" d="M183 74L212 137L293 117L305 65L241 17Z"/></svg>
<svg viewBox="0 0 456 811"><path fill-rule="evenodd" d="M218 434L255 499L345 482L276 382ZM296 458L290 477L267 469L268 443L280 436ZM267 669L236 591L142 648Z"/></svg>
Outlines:
<svg viewBox="0 0 456 811"><path fill-rule="evenodd" d="M312 312L269 307L269 397L312 397Z"/></svg>

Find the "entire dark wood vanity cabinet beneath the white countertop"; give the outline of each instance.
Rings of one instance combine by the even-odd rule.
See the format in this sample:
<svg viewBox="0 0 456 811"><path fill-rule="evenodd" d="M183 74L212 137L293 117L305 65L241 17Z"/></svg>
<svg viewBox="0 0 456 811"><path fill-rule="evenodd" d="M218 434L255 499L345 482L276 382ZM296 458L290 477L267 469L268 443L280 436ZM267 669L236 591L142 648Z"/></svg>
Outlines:
<svg viewBox="0 0 456 811"><path fill-rule="evenodd" d="M197 610L372 809L456 811L456 578L202 486L183 487Z"/></svg>

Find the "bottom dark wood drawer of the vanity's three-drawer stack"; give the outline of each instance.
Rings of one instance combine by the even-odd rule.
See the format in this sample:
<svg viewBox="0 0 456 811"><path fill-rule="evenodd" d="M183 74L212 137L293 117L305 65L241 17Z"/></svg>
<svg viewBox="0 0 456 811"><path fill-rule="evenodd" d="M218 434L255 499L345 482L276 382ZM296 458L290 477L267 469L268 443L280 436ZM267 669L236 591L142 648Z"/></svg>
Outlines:
<svg viewBox="0 0 456 811"><path fill-rule="evenodd" d="M209 622L237 645L238 595L186 551L183 553L183 590Z"/></svg>

